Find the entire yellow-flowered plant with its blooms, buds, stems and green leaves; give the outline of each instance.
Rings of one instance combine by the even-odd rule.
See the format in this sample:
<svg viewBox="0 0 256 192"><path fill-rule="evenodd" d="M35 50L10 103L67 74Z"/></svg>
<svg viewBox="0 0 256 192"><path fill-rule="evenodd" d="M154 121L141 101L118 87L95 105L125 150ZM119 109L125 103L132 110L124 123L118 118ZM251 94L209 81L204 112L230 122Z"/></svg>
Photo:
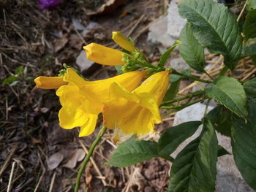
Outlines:
<svg viewBox="0 0 256 192"><path fill-rule="evenodd" d="M78 192L80 177L94 148L107 129L113 130L110 133L113 133L118 147L106 164L124 167L154 157L165 158L173 163L168 188L170 192L214 191L217 157L228 154L218 145L215 131L219 131L231 137L238 169L246 182L256 189L255 180L252 179L256 177L256 80L241 82L234 77L224 76L227 69L233 76L239 59L250 56L251 49L244 47L244 55L241 55L242 37L238 23L221 4L210 0L180 0L178 4L181 15L189 22L182 29L179 40L161 55L157 64L151 64L135 47L132 39L127 39L120 31L113 31L112 39L121 47L120 50L94 42L83 49L91 61L115 66L121 74L106 80L88 81L74 69L67 68L61 71L59 77L37 77L34 80L37 88L57 89L62 128L80 127L79 136L89 136L96 128L97 121L101 121L98 115L102 114L99 133L80 165L75 192ZM209 6L205 7L206 4ZM206 10L212 7L214 12ZM208 13L218 17L208 17ZM223 17L226 17L225 23L219 20ZM233 23L232 27L222 30L230 23ZM204 73L202 77L205 78L196 77L190 70L178 72L165 67L177 46L187 64L197 72ZM223 55L225 67L219 77L211 77L206 72L204 47ZM183 78L194 81L193 84L204 82L206 88L181 95L178 88ZM215 99L219 106L207 112L210 99ZM155 125L162 123L162 117L205 100L206 110L202 120L181 123L159 135ZM172 153L195 134L200 125L203 125L200 135L173 158ZM159 139L155 139L154 134Z"/></svg>

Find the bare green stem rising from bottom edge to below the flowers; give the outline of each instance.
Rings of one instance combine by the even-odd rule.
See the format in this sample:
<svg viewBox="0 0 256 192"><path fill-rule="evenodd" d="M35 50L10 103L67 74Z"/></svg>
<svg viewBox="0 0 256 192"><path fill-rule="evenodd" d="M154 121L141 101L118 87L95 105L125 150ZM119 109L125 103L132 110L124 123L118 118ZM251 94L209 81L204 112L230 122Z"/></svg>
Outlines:
<svg viewBox="0 0 256 192"><path fill-rule="evenodd" d="M88 163L92 153L94 152L94 148L96 147L96 145L99 143L99 140L102 138L102 136L105 134L105 131L107 130L107 128L105 126L102 126L102 128L99 130L99 134L97 135L96 139L94 140L94 142L91 144L91 147L89 149L88 154L86 155L86 157L83 159L82 164L80 165L80 169L78 171L78 177L76 179L75 182L75 192L78 192L79 189L79 185L80 185L80 179L81 176L83 174L84 169L86 168L86 164Z"/></svg>

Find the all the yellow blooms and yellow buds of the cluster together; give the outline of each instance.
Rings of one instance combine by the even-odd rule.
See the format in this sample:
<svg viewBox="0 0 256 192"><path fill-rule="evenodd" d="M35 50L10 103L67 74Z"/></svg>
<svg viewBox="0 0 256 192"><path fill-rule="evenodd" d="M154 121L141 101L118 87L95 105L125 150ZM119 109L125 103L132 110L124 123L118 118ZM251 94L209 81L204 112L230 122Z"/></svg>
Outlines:
<svg viewBox="0 0 256 192"><path fill-rule="evenodd" d="M124 65L124 55L132 57L136 48L118 31L113 32L113 40L125 52L91 43L83 47L87 57L102 65ZM64 76L40 76L34 81L37 88L58 88L56 95L62 106L59 110L62 128L80 127L79 136L88 136L94 131L102 112L106 127L140 137L154 133L154 124L162 122L159 104L167 91L169 71L152 74L142 82L146 76L146 71L134 71L106 80L87 81L68 68Z"/></svg>

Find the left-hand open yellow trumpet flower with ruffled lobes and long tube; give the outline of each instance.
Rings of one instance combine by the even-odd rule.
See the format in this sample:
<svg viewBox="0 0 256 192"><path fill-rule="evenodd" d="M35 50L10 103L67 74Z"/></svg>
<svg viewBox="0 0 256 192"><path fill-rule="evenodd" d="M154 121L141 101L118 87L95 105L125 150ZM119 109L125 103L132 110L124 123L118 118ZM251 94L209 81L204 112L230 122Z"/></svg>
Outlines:
<svg viewBox="0 0 256 192"><path fill-rule="evenodd" d="M62 128L80 127L80 137L87 136L94 131L99 112L102 112L103 102L108 101L109 88L113 82L127 88L135 89L146 72L129 72L106 80L83 80L73 69L67 69L62 85L57 91L61 102L59 121Z"/></svg>

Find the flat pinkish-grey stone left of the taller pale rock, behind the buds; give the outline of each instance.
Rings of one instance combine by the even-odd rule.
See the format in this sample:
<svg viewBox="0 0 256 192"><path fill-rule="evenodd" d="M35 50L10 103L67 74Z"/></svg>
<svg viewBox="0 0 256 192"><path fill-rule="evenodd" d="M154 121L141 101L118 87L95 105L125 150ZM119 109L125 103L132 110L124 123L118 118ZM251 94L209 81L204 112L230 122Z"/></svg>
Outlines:
<svg viewBox="0 0 256 192"><path fill-rule="evenodd" d="M149 27L148 42L159 44L160 53L173 45L176 39L167 34L167 17L161 17Z"/></svg>

